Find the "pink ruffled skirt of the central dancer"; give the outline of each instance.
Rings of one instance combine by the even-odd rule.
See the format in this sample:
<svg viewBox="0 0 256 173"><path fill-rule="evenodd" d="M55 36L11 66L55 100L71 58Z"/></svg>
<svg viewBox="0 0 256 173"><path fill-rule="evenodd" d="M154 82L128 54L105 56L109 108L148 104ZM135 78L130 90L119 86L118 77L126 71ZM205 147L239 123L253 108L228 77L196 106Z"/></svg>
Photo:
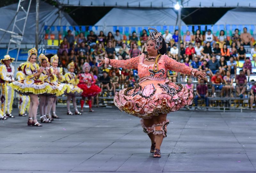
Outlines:
<svg viewBox="0 0 256 173"><path fill-rule="evenodd" d="M169 81L148 80L116 92L114 103L133 116L152 118L159 113L175 112L192 104L193 99L193 89Z"/></svg>

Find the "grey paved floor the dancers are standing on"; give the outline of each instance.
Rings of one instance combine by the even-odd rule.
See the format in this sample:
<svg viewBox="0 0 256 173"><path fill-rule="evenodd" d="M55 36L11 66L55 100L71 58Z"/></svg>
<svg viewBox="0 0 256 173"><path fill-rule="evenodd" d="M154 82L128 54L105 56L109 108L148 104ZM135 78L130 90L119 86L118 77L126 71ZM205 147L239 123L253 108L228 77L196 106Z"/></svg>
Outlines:
<svg viewBox="0 0 256 173"><path fill-rule="evenodd" d="M27 117L0 120L0 172L256 172L255 112L171 113L156 159L139 118L94 110L68 116L58 108L61 119L43 127L26 126Z"/></svg>

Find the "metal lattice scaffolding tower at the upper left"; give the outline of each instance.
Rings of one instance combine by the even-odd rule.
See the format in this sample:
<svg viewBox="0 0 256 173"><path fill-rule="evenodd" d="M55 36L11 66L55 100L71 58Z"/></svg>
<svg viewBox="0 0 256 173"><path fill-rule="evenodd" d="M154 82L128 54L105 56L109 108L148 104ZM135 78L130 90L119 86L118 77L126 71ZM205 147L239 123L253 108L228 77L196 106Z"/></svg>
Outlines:
<svg viewBox="0 0 256 173"><path fill-rule="evenodd" d="M4 35L6 33L11 34L6 54L8 54L9 51L12 51L14 49L18 49L15 65L16 65L17 60L18 60L18 56L19 56L19 52L20 52L20 44L23 40L23 35L24 35L25 26L26 26L27 19L28 19L28 13L29 13L31 1L32 0L19 0L17 11L16 11L15 16L13 17L12 21L10 22L9 26L6 29L1 29L0 28L0 31L5 32L2 36L2 38L0 39L0 43L1 43L1 41L4 38ZM20 19L17 19L18 16L22 16L21 13L23 13L23 15L25 13L26 16L22 17ZM22 23L23 27L18 27L18 25L17 25L18 22L23 22ZM10 26L12 26L11 31L9 30ZM19 26L22 26L22 25L19 25ZM11 43L14 43L14 45L15 45L12 49L10 49Z"/></svg>

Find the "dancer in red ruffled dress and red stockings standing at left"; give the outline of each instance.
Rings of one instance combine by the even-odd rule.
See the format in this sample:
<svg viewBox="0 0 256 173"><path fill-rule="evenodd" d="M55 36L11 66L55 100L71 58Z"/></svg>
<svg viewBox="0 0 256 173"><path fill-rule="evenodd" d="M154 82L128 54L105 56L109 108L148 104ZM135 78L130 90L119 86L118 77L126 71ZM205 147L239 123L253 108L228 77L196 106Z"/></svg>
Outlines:
<svg viewBox="0 0 256 173"><path fill-rule="evenodd" d="M91 66L89 63L84 63L83 65L83 71L84 73L81 73L78 75L79 78L79 84L77 85L79 88L83 90L82 93L82 100L81 100L81 112L84 112L84 99L87 97L87 104L89 105L89 112L94 112L92 110L92 97L96 96L101 92L101 89L99 86L95 85L96 81L94 77L90 73Z"/></svg>

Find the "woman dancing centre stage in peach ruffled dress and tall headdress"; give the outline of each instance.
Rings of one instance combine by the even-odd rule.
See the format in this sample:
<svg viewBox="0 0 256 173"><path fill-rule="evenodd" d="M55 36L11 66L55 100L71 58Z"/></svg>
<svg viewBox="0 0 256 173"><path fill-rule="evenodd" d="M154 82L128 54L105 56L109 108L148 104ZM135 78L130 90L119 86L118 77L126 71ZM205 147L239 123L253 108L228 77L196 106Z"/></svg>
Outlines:
<svg viewBox="0 0 256 173"><path fill-rule="evenodd" d="M152 32L150 32L152 30ZM193 102L193 90L166 79L168 70L204 78L205 71L192 69L166 55L166 44L156 29L148 28L147 54L127 59L105 58L99 65L138 69L140 82L135 87L115 93L114 103L121 111L141 118L143 132L151 139L150 153L161 157L160 147L167 135L167 113L175 112Z"/></svg>

